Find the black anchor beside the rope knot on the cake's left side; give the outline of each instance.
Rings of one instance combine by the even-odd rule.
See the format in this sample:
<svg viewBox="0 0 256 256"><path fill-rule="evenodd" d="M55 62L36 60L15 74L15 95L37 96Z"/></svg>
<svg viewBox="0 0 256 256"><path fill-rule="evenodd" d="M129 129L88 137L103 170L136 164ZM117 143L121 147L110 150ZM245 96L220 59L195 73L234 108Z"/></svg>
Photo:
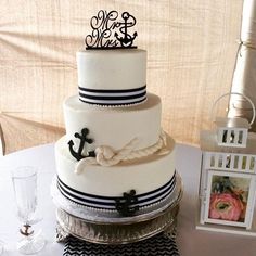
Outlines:
<svg viewBox="0 0 256 256"><path fill-rule="evenodd" d="M82 155L82 150L84 150L84 146L86 144L86 142L88 144L91 144L93 142L92 139L89 139L87 138L89 133L89 129L87 128L84 128L81 130L81 133L79 135L78 132L76 132L74 135L75 138L78 138L80 140L80 144L79 144L79 148L78 148L78 152L76 152L73 146L74 146L74 141L73 140L69 140L68 141L68 145L69 145L69 151L71 151L71 154L77 159L77 161L80 161L82 158L86 158L86 157L95 157L95 152L94 151L89 151L87 155Z"/></svg>

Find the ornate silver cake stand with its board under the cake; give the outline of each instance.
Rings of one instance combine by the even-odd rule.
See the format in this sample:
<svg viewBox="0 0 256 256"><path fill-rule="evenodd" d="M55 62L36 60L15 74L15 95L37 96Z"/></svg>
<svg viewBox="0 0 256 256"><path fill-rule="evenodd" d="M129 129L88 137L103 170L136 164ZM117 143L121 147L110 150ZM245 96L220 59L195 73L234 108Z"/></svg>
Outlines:
<svg viewBox="0 0 256 256"><path fill-rule="evenodd" d="M65 199L53 180L51 193L56 205L56 241L64 242L69 235L100 244L126 244L151 238L159 232L174 238L177 227L182 182L177 175L174 192L165 201L141 209L132 217L118 213L100 212L77 205Z"/></svg>

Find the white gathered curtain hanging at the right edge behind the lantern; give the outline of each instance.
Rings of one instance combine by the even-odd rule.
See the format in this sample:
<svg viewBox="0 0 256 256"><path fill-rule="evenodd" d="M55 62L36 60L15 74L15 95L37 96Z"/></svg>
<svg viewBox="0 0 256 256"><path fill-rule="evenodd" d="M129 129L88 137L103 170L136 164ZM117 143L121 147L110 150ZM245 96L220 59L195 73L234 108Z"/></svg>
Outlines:
<svg viewBox="0 0 256 256"><path fill-rule="evenodd" d="M256 0L244 0L240 40L231 92L248 97L256 106ZM229 108L230 117L252 120L252 105L244 97L231 95ZM256 121L252 131L256 131Z"/></svg>

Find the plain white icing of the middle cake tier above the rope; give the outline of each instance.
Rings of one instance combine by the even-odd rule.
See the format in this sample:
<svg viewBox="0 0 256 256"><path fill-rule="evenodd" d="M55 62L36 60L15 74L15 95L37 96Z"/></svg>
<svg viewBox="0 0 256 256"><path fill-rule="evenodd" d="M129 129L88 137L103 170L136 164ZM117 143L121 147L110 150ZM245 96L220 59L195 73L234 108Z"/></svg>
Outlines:
<svg viewBox="0 0 256 256"><path fill-rule="evenodd" d="M78 95L64 102L66 140L78 146L75 132L89 129L88 138L94 140L88 150L108 145L123 149L132 139L138 139L136 150L149 148L158 141L161 133L161 99L148 93L148 100L129 107L100 107L79 101Z"/></svg>

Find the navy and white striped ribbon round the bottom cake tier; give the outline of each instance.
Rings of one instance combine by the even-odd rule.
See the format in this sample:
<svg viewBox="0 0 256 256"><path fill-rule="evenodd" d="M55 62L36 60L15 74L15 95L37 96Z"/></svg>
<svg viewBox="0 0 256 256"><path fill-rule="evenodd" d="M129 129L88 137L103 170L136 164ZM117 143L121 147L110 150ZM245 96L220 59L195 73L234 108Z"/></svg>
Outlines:
<svg viewBox="0 0 256 256"><path fill-rule="evenodd" d="M138 202L132 206L139 205L139 207L145 207L155 204L157 202L161 202L174 191L175 187L176 187L176 174L174 174L172 178L163 187L143 194L136 195ZM82 206L93 207L99 209L115 210L116 200L121 200L121 197L102 196L102 195L80 192L65 184L59 177L57 177L57 189L68 200Z"/></svg>

